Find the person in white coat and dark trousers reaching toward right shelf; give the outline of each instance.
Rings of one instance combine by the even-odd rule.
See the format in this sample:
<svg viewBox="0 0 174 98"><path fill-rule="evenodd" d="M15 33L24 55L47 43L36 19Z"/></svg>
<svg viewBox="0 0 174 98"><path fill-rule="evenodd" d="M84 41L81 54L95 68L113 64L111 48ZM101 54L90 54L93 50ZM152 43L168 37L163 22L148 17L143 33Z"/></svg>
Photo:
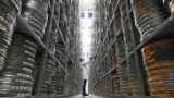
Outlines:
<svg viewBox="0 0 174 98"><path fill-rule="evenodd" d="M95 57L89 58L89 60L94 59ZM84 59L80 59L82 77L83 77L83 96L88 96L88 94L86 93L86 83L89 79L88 69L87 69L89 60L84 62Z"/></svg>

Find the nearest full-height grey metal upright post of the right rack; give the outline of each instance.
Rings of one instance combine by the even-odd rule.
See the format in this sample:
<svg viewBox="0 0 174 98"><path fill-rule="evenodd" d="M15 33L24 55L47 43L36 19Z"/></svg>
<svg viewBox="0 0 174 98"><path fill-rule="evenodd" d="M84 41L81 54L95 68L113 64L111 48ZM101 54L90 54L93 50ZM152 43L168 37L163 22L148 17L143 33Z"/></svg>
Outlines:
<svg viewBox="0 0 174 98"><path fill-rule="evenodd" d="M126 11L127 11L127 16L128 16L128 25L129 25L129 28L130 28L130 37L132 37L132 40L133 40L133 47L136 48L138 42L137 40L135 39L136 36L134 35L136 29L133 27L134 22L133 22L133 16L130 16L132 13L128 13L129 12L129 9L130 9L130 2L129 0L124 0L125 1L125 4L126 4ZM146 79L146 74L145 74L145 70L144 70L144 65L142 65L142 61L141 61L141 56L139 54L139 51L135 51L134 52L134 56L135 56L135 71L138 73L137 76L138 76L138 83L140 85L140 90L141 90L141 95L142 96L149 96L149 90L148 90L148 84L147 84L147 79Z"/></svg>

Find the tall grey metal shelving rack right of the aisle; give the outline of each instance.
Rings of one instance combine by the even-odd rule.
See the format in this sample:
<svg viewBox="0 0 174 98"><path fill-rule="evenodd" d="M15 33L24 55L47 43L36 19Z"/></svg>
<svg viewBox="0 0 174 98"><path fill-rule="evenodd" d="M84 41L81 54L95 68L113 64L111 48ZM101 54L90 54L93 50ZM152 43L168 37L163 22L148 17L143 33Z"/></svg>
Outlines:
<svg viewBox="0 0 174 98"><path fill-rule="evenodd" d="M134 0L135 2L137 0ZM119 29L114 29L113 25L116 23L116 19L121 17L121 4L125 5L126 17L120 25ZM123 10L123 9L122 9ZM107 19L107 20L105 20ZM96 1L96 49L98 52L96 62L90 70L89 90L94 95L105 96L110 98L157 98L149 94L148 84L146 81L146 72L142 65L140 49L152 41L157 41L164 38L173 38L174 28L172 24L174 17L171 15L166 21L160 25L151 36L145 41L140 42L137 39L138 30L134 24L133 8L130 0L97 0ZM107 24L107 26L105 26ZM119 46L119 38L124 37L124 25L127 24L127 28L130 33L133 49L117 62L117 57L114 51ZM127 64L129 60L134 60L134 65L130 70L136 72L136 84L138 85L139 95L121 95L117 90L114 90L114 79L119 78L117 69L123 69L124 64ZM127 69L126 69L127 71ZM116 82L116 81L115 81ZM136 88L137 89L137 88ZM116 94L115 94L116 93ZM160 97L159 97L160 98ZM169 97L170 98L170 97Z"/></svg>

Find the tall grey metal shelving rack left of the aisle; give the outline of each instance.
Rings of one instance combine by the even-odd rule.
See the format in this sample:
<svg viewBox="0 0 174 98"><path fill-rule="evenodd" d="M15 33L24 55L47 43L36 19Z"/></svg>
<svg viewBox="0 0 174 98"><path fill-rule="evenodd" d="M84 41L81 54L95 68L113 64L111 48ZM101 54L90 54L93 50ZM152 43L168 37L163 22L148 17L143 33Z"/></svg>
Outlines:
<svg viewBox="0 0 174 98"><path fill-rule="evenodd" d="M10 7L8 0L1 0L0 3ZM54 11L55 3L59 3L60 11L59 16L55 17ZM61 16L63 17L61 17ZM53 22L57 24L55 34L59 35L58 44L57 44L57 57L52 54L49 50L49 40L51 30L53 30ZM64 28L60 28L60 22L65 24ZM48 9L48 22L46 27L46 34L44 39L37 38L35 32L30 28L28 23L21 16L21 14L16 14L16 33L33 38L39 46L39 52L41 52L41 57L39 58L39 70L37 72L37 81L35 82L34 94L32 96L27 96L27 98L59 98L63 96L71 96L80 93L80 75L79 72L79 17L78 17L78 0L50 0L49 9ZM61 47L60 47L61 46ZM62 86L62 91L57 95L42 95L42 84L44 84L44 75L47 66L47 60L51 58L55 61L57 66L59 69L59 73L57 74L64 75L62 77L62 83L64 81L66 85ZM74 73L76 72L76 73ZM57 90L58 91L58 90ZM9 98L9 97L8 97ZM15 97L17 98L17 97ZM18 97L21 98L21 97Z"/></svg>

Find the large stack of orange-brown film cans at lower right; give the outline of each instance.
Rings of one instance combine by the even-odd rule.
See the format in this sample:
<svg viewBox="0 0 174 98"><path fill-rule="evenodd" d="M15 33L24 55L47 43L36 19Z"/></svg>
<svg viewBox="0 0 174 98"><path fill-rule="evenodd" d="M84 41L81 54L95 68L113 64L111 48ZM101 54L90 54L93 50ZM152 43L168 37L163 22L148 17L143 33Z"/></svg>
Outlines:
<svg viewBox="0 0 174 98"><path fill-rule="evenodd" d="M174 96L174 39L163 39L145 46L144 65L147 70L151 96Z"/></svg>

